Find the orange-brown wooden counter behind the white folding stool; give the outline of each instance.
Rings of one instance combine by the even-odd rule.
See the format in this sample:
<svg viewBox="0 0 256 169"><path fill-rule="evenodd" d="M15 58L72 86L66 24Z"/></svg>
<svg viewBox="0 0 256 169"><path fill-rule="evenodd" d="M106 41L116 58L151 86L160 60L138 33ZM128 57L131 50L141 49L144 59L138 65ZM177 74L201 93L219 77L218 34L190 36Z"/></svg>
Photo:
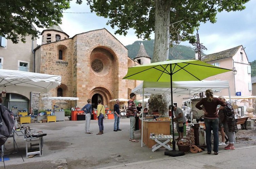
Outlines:
<svg viewBox="0 0 256 169"><path fill-rule="evenodd" d="M140 119L141 122L141 119ZM156 144L155 140L150 139L150 133L170 135L171 121L143 121L143 143L152 148ZM141 131L141 130L140 130Z"/></svg>

